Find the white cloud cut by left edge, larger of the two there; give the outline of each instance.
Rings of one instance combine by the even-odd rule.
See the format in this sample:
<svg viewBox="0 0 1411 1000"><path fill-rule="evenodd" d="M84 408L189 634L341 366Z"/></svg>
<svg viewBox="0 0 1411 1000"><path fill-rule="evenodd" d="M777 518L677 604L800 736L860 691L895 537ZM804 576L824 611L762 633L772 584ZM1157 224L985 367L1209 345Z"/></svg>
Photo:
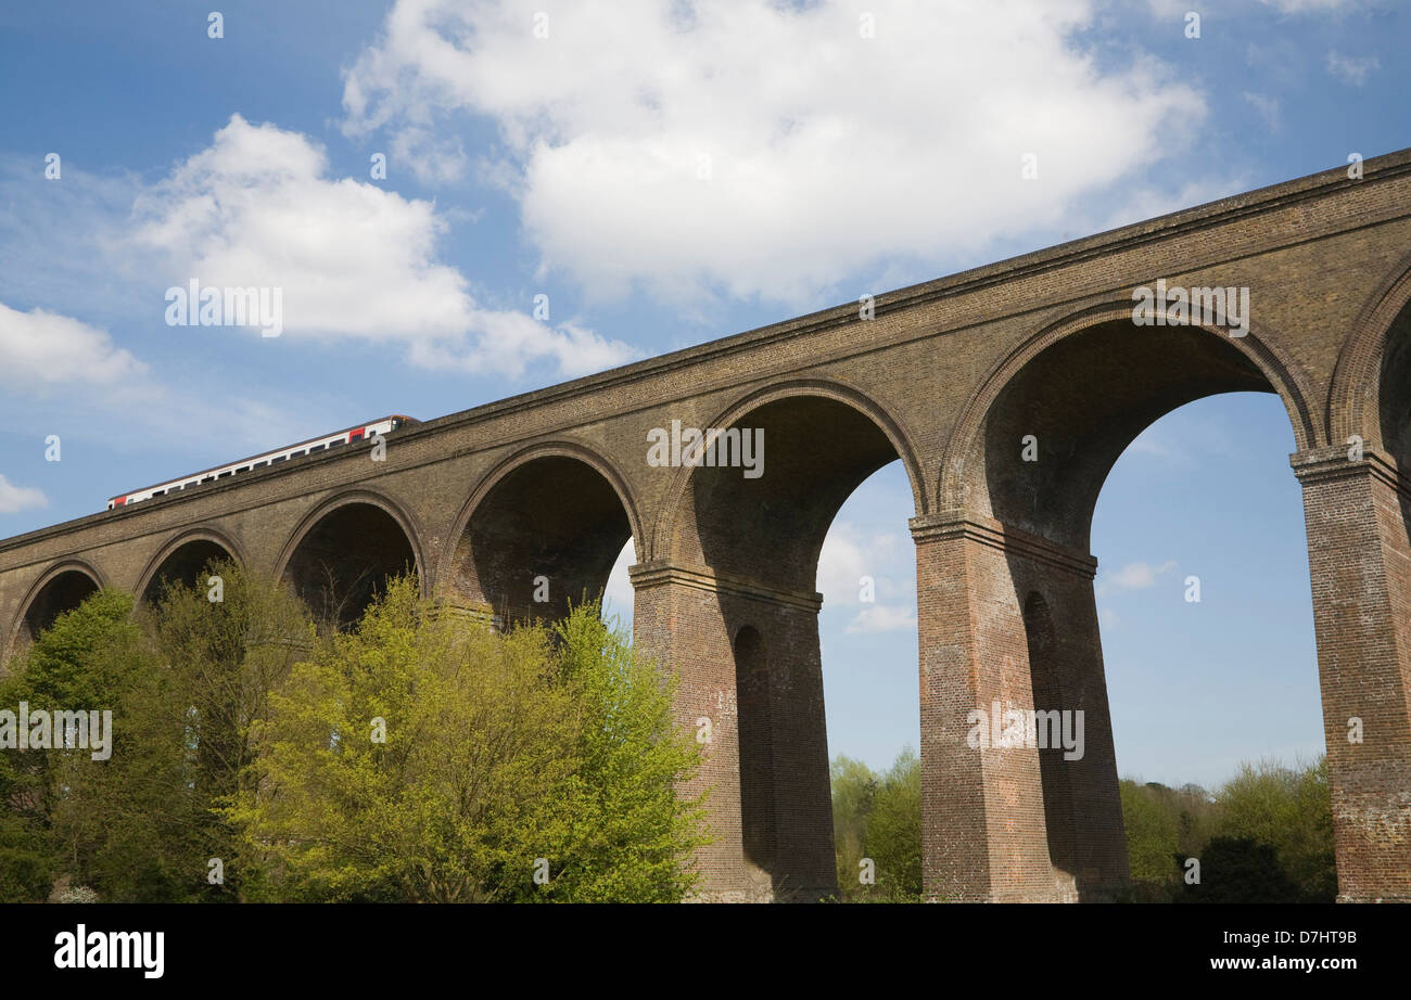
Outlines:
<svg viewBox="0 0 1411 1000"><path fill-rule="evenodd" d="M83 382L113 385L147 367L113 344L106 330L44 309L0 302L0 382L17 388Z"/></svg>

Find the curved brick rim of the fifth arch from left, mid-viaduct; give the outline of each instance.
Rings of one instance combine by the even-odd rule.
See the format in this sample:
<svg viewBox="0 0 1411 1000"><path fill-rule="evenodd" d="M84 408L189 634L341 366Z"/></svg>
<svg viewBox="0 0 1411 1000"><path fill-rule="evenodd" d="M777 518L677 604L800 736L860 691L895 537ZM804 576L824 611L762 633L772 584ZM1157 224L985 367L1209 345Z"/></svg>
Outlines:
<svg viewBox="0 0 1411 1000"><path fill-rule="evenodd" d="M902 460L902 465L906 468L907 482L912 487L912 502L916 505L917 515L924 515L930 511L921 463L916 458L916 449L912 446L912 434L904 429L900 416L895 415L889 408L883 406L864 392L859 392L858 389L854 389L842 382L824 378L801 378L766 385L763 388L753 389L729 403L724 410L713 417L707 426L731 427L762 406L768 406L769 403L775 403L782 399L800 398L831 399L851 406L858 413L869 419L878 430L886 434L888 440L892 441L892 447ZM672 484L666 489L666 495L662 501L662 509L658 512L656 526L652 532L652 559L663 559L674 554L673 544L676 539L676 528L682 515L682 508L684 506L683 501L686 498L686 492L691 482L691 474L694 471L694 468L684 465L676 470Z"/></svg>

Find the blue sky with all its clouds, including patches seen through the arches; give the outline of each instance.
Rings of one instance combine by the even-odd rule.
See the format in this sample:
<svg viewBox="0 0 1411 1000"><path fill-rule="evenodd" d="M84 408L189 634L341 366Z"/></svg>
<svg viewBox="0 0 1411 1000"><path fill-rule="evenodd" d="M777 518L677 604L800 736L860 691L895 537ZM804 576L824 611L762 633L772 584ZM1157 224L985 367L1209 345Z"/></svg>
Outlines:
<svg viewBox="0 0 1411 1000"><path fill-rule="evenodd" d="M0 11L0 536L1411 144L1391 3L217 8ZM284 334L166 326L192 275L289 289ZM1223 396L1113 470L1123 774L1322 749L1291 450L1273 396ZM820 566L830 748L876 767L919 733L912 512L882 470Z"/></svg>

